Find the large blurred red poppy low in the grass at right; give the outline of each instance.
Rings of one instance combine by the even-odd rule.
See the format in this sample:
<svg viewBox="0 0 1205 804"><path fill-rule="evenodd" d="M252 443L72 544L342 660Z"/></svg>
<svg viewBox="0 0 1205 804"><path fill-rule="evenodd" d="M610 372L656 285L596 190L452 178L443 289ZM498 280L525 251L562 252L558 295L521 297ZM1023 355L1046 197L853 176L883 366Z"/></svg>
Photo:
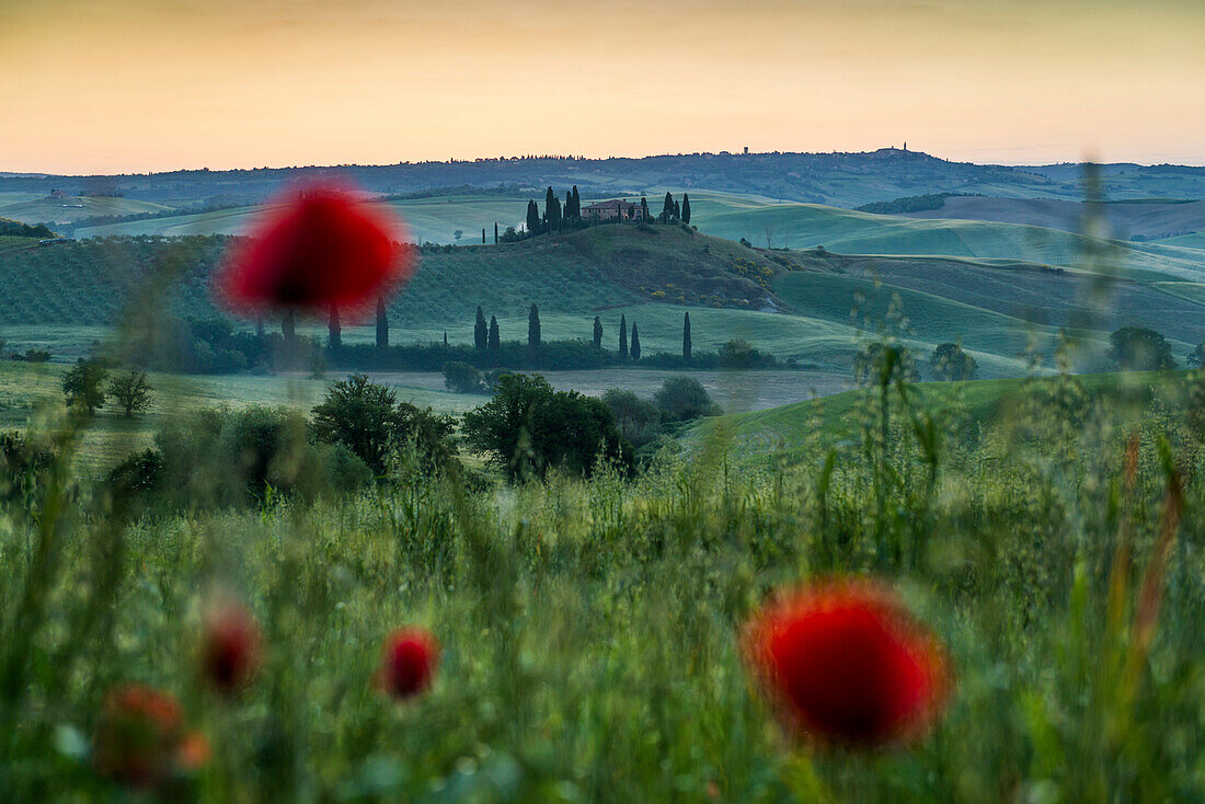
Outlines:
<svg viewBox="0 0 1205 804"><path fill-rule="evenodd" d="M945 653L889 591L837 581L758 612L745 656L788 729L874 746L919 736L948 691Z"/></svg>

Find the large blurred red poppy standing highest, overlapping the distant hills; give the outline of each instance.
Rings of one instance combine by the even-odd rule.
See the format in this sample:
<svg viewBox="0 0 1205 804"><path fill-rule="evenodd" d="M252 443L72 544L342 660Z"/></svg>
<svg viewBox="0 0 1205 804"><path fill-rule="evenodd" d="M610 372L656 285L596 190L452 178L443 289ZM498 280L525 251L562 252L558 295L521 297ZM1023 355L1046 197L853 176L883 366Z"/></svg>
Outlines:
<svg viewBox="0 0 1205 804"><path fill-rule="evenodd" d="M272 205L218 277L247 311L363 309L415 270L400 221L345 189L317 186Z"/></svg>

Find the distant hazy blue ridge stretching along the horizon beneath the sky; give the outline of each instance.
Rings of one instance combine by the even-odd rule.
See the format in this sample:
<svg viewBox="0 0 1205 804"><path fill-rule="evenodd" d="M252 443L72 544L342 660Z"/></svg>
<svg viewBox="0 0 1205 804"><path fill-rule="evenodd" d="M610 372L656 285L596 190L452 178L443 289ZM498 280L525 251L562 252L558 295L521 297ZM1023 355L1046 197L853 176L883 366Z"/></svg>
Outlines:
<svg viewBox="0 0 1205 804"><path fill-rule="evenodd" d="M1109 198L1205 198L1205 169L1105 165ZM595 195L656 194L665 188L762 195L812 204L859 206L927 193L977 193L1003 198L1083 198L1081 165L1007 168L956 163L924 153L883 148L869 153L696 153L639 159L509 158L340 168L182 170L129 176L0 177L0 193L45 196L100 189L127 200L167 206L263 201L301 177L336 172L376 193L436 187L543 188L577 184ZM4 212L0 212L4 215ZM41 219L41 218L39 218Z"/></svg>

